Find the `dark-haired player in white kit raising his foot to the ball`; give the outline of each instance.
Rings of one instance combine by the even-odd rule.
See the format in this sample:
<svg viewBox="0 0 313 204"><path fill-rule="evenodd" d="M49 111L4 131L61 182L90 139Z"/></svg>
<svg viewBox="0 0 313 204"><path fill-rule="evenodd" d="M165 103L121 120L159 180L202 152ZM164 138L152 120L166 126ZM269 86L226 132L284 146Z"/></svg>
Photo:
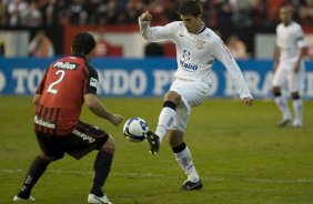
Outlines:
<svg viewBox="0 0 313 204"><path fill-rule="evenodd" d="M253 98L240 68L222 40L201 21L202 8L196 1L186 1L180 9L181 21L164 27L150 27L152 16L147 11L139 18L144 39L154 42L170 40L175 43L178 70L175 80L163 98L155 132L149 132L150 153L156 154L160 143L168 134L174 156L188 180L182 190L198 190L203 186L192 162L183 136L191 108L200 105L211 89L211 69L214 59L220 60L231 73L241 100L252 105Z"/></svg>

